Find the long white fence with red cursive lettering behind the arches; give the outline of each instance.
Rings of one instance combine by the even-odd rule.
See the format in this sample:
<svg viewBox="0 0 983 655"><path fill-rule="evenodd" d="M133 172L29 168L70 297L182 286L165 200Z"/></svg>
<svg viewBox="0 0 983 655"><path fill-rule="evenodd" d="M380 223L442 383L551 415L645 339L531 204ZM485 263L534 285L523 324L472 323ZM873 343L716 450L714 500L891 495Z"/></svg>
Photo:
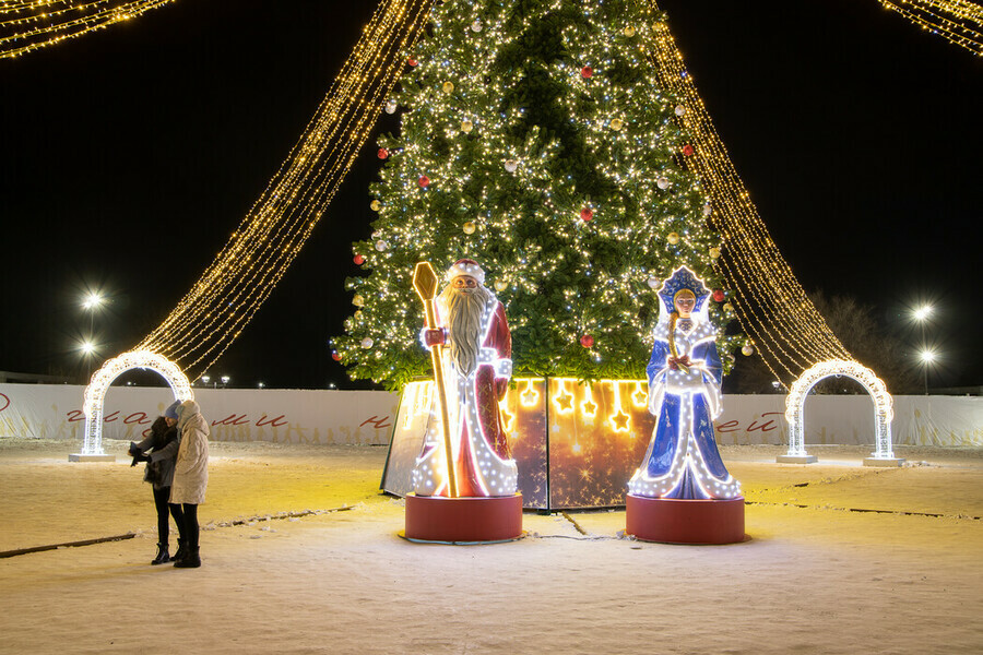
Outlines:
<svg viewBox="0 0 983 655"><path fill-rule="evenodd" d="M0 384L0 437L82 441L83 386ZM215 441L388 443L399 395L381 391L196 389ZM106 396L103 434L137 441L174 394L164 388L114 386ZM716 438L722 444L784 444L784 395L724 396ZM809 444L873 444L869 396L813 395L806 401ZM896 445L983 445L983 398L895 396Z"/></svg>

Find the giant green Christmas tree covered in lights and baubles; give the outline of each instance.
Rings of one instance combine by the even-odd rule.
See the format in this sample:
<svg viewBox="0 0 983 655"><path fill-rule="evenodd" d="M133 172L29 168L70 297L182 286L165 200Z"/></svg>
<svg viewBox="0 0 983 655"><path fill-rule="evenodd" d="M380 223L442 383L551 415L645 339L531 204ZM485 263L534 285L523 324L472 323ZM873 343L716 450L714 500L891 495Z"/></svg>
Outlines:
<svg viewBox="0 0 983 655"><path fill-rule="evenodd" d="M387 111L398 135L354 245L365 276L334 340L354 378L429 374L416 262L479 262L508 308L518 376L643 378L654 289L686 264L714 289L730 369L744 343L714 272L720 236L687 160L686 111L656 84L643 0L448 0Z"/></svg>

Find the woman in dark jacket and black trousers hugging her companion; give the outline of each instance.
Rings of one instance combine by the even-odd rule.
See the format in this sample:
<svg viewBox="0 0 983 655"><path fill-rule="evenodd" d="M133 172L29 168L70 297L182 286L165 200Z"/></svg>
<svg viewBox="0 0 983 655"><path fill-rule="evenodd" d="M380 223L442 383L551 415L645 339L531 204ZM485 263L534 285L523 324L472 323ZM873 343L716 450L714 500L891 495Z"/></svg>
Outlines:
<svg viewBox="0 0 983 655"><path fill-rule="evenodd" d="M133 465L137 462L146 462L143 479L154 486L154 505L157 508L157 557L151 562L152 564L170 561L168 510L178 526L178 551L174 558L182 557L182 550L186 548L181 505L167 502L174 481L174 463L181 443L181 437L176 427L176 409L179 404L179 402L174 403L164 412L164 416L157 417L157 420L151 426L151 433L146 439L140 443L130 443Z"/></svg>

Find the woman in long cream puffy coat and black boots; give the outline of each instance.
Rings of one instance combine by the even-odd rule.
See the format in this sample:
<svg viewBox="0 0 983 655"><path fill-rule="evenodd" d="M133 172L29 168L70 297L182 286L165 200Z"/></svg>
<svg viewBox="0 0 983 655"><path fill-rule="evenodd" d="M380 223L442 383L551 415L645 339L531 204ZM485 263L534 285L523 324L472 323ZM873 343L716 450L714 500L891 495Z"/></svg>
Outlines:
<svg viewBox="0 0 983 655"><path fill-rule="evenodd" d="M182 559L175 561L174 565L178 569L194 569L201 565L198 505L204 502L205 488L209 486L209 421L201 415L201 408L194 401L181 403L177 415L181 445L174 465L170 502L181 505L188 552Z"/></svg>

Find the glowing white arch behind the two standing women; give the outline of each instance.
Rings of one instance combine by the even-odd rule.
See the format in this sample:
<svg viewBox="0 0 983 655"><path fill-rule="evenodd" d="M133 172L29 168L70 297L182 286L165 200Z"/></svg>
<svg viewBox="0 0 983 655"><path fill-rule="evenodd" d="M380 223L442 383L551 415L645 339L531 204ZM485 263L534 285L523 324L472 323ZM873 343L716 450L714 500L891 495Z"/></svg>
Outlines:
<svg viewBox="0 0 983 655"><path fill-rule="evenodd" d="M176 364L151 350L130 350L107 360L88 381L85 388L82 412L85 414L85 437L82 440L82 455L103 455L103 403L112 381L134 368L150 369L159 373L174 391L176 401L193 401L191 382Z"/></svg>

